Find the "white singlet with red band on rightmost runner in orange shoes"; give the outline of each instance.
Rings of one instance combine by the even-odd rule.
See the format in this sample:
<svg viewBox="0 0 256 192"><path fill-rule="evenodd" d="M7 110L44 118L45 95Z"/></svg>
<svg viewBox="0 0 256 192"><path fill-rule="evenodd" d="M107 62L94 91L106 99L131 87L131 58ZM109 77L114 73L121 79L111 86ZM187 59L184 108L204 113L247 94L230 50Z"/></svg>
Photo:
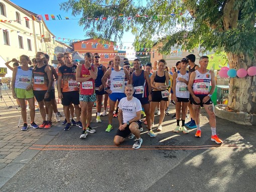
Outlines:
<svg viewBox="0 0 256 192"><path fill-rule="evenodd" d="M208 95L211 84L211 71L201 74L198 70L195 71L196 76L193 82L193 93L195 95Z"/></svg>

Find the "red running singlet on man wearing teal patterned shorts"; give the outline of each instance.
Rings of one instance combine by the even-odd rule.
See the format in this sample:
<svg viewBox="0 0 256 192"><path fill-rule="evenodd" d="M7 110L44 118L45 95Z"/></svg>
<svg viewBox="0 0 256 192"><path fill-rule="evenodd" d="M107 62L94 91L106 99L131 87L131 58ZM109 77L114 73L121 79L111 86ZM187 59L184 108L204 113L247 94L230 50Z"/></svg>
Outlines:
<svg viewBox="0 0 256 192"><path fill-rule="evenodd" d="M94 71L94 67L91 66L92 71ZM80 77L89 77L90 72L88 69L84 67L84 64L82 65L81 69L81 76ZM80 83L80 94L81 95L92 95L95 93L95 81L91 78L87 81Z"/></svg>

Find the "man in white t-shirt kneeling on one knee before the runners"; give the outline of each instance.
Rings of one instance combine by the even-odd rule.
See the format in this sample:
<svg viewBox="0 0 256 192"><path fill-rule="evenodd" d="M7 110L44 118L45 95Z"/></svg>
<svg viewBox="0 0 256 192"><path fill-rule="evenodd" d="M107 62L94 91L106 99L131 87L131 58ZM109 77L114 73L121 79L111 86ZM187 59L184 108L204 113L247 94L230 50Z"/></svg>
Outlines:
<svg viewBox="0 0 256 192"><path fill-rule="evenodd" d="M133 96L133 85L126 85L124 93L126 97L122 98L118 104L119 128L114 136L114 144L119 145L127 136L132 139L135 135L133 148L139 149L143 142L140 135L142 105L140 100Z"/></svg>

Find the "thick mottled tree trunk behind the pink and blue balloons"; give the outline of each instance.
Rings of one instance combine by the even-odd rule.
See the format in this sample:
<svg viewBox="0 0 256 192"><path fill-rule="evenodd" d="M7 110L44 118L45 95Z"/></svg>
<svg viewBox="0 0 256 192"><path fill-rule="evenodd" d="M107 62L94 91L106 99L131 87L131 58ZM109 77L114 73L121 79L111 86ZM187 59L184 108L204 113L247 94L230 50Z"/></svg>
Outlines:
<svg viewBox="0 0 256 192"><path fill-rule="evenodd" d="M247 70L249 67L255 66L255 61L251 61L243 54L227 53L227 59L230 69L244 68ZM256 114L256 76L230 78L227 107L235 112Z"/></svg>

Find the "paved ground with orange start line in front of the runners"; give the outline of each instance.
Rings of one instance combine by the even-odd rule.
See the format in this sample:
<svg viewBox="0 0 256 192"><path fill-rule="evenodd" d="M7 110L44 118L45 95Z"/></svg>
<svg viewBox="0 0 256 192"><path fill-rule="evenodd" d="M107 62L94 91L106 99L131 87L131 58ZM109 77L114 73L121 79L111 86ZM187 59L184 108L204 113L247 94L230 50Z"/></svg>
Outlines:
<svg viewBox="0 0 256 192"><path fill-rule="evenodd" d="M129 139L113 145L117 119L106 133L107 117L95 123L94 116L97 132L79 139L80 128L64 131L60 123L49 130L20 131L19 111L7 109L3 100L0 115L0 191L255 191L253 126L217 118L217 133L224 140L217 145L210 140L204 112L200 139L194 129L187 135L173 133L176 121L166 116L163 131L155 127L157 137L150 138L144 128L142 148L134 150ZM41 122L39 112L36 119Z"/></svg>

